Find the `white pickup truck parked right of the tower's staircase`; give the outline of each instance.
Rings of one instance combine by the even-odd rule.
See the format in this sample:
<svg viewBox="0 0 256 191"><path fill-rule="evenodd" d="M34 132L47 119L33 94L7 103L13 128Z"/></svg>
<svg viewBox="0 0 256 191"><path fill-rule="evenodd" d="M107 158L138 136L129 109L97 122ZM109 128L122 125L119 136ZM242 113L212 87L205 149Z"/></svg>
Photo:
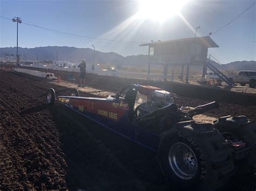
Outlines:
<svg viewBox="0 0 256 191"><path fill-rule="evenodd" d="M235 83L240 83L241 86L249 84L250 88L256 88L256 71L241 70L238 75L230 75Z"/></svg>

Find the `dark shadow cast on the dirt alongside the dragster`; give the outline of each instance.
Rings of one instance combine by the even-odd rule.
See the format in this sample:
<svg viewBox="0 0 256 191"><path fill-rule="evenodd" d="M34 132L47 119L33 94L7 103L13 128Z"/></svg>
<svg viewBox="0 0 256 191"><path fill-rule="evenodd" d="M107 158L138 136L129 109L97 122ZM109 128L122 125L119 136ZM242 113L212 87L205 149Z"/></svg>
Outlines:
<svg viewBox="0 0 256 191"><path fill-rule="evenodd" d="M69 189L170 190L155 153L63 105L49 109L61 134Z"/></svg>

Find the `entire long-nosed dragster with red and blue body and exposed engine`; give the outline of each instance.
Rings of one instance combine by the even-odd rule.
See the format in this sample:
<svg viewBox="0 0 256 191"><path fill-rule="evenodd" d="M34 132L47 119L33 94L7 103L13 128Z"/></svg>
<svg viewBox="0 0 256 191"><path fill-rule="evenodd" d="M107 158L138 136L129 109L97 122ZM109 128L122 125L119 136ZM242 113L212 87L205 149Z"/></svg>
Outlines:
<svg viewBox="0 0 256 191"><path fill-rule="evenodd" d="M231 175L253 171L256 124L245 116L225 116L197 123L193 116L218 108L217 102L178 108L175 95L160 88L130 84L107 98L56 96L49 104L64 104L119 135L157 153L167 180L180 190L212 190ZM132 152L132 151L131 151Z"/></svg>

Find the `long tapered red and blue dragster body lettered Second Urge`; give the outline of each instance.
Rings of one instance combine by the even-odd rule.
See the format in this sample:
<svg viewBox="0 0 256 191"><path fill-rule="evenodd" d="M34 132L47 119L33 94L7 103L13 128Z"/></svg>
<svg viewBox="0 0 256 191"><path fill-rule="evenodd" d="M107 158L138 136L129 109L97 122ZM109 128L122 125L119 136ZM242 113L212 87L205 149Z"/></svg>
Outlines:
<svg viewBox="0 0 256 191"><path fill-rule="evenodd" d="M138 125L129 121L129 105L124 98L58 96L57 99L59 103L92 119L105 128L157 152L160 142L159 135L139 128Z"/></svg>

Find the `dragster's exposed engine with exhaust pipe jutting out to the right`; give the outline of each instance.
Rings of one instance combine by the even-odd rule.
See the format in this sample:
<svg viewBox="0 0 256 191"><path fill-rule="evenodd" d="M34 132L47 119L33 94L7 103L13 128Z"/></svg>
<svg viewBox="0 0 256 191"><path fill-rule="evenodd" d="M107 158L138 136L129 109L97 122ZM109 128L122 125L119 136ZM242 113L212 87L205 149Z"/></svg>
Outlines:
<svg viewBox="0 0 256 191"><path fill-rule="evenodd" d="M218 108L217 102L199 105L188 111L178 109L174 104L176 95L164 90L154 90L147 102L135 110L134 123L155 133L164 132L178 122L191 121L194 115Z"/></svg>

